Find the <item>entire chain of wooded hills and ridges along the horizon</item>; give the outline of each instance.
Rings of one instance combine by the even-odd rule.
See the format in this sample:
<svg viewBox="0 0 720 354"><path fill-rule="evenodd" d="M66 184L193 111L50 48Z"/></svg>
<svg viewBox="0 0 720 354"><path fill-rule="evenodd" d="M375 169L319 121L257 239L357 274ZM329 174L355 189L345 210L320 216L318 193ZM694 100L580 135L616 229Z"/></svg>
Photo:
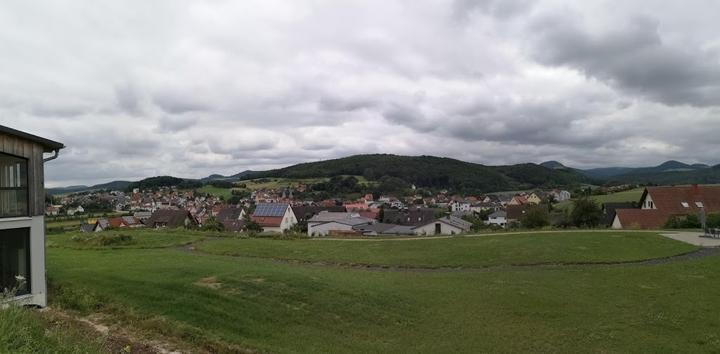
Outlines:
<svg viewBox="0 0 720 354"><path fill-rule="evenodd" d="M326 178L343 175L364 176L371 181L379 181L387 176L402 179L417 187L487 193L578 184L712 184L720 183L720 165L711 167L706 164L687 164L671 160L654 167L606 167L582 170L568 167L558 161L486 166L435 156L375 154L300 163L269 171L246 170L231 176L212 174L200 179L161 176L137 182L114 181L90 187L48 188L47 192L57 195L104 189L128 190L132 186L195 188L213 181L237 182L270 177Z"/></svg>

